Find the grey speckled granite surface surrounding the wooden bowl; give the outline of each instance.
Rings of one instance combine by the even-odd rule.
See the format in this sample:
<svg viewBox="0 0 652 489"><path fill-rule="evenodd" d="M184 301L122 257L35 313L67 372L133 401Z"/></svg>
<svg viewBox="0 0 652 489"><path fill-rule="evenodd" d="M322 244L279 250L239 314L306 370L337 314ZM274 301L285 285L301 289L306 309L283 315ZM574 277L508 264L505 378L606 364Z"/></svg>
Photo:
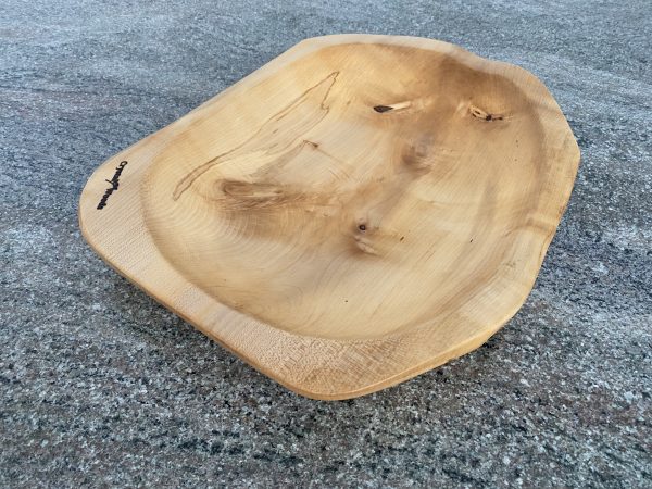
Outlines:
<svg viewBox="0 0 652 489"><path fill-rule="evenodd" d="M652 486L649 0L0 3L0 486ZM582 152L536 287L491 340L346 402L279 387L109 268L104 159L297 41L448 40L524 66Z"/></svg>

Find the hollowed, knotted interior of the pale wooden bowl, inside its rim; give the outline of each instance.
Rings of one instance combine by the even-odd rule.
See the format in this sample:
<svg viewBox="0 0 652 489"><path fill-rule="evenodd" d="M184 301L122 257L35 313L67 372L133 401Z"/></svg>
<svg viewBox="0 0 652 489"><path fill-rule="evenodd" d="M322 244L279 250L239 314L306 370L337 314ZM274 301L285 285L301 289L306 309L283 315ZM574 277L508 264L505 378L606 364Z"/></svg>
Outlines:
<svg viewBox="0 0 652 489"><path fill-rule="evenodd" d="M544 141L509 71L338 45L214 103L155 156L141 203L161 253L220 302L367 339L473 310L523 265Z"/></svg>

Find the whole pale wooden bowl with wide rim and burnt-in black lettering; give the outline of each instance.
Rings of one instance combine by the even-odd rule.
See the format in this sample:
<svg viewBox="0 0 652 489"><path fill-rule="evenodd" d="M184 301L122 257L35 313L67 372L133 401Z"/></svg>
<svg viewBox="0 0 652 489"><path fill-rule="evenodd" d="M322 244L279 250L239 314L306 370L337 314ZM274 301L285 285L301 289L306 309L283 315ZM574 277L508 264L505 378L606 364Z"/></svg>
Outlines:
<svg viewBox="0 0 652 489"><path fill-rule="evenodd" d="M328 36L106 161L79 218L198 329L299 393L344 399L479 347L518 310L578 163L526 71Z"/></svg>

